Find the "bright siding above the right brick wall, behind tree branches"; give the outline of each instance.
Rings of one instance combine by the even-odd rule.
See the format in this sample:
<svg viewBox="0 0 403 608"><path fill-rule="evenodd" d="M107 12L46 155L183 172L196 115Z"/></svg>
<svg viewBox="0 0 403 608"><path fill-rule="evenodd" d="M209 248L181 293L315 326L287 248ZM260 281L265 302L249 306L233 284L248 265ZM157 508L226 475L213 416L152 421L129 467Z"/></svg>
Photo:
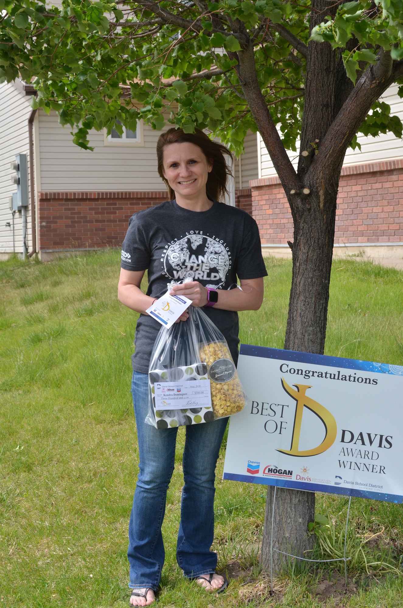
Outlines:
<svg viewBox="0 0 403 608"><path fill-rule="evenodd" d="M392 85L381 98L382 101L390 105L391 116L399 116L403 122L403 100L398 96L398 85ZM264 143L260 140L261 147L261 176L267 178L276 174L273 163L268 156ZM344 165L362 165L370 162L388 161L401 158L403 156L403 142L394 137L392 133L380 134L379 137L364 137L360 135L358 141L361 151L358 148L352 150L348 148L345 156ZM298 164L299 143L296 145L297 152L288 151L289 158L296 168Z"/></svg>

